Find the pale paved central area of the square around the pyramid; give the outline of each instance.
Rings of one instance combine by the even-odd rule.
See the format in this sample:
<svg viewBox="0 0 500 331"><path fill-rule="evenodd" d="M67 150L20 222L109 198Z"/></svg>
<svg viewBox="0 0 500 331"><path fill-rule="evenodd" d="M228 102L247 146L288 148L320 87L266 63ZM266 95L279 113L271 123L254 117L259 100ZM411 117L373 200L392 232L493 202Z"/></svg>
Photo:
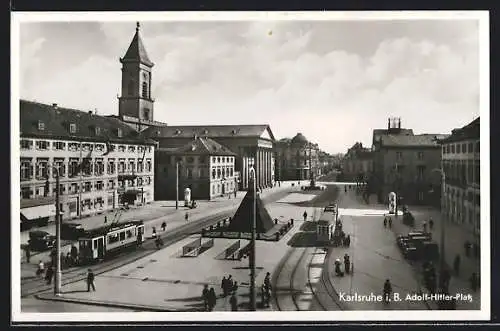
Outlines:
<svg viewBox="0 0 500 331"><path fill-rule="evenodd" d="M298 219L303 207L269 204L266 206L273 218L286 222ZM308 212L312 210L308 209ZM266 272L273 272L286 250L288 241L298 231L303 221L295 225L279 242L257 241L257 303L260 302L260 285ZM218 258L235 240L215 239L214 247L197 257L182 257L182 247L194 240L191 236L171 246L165 247L141 260L112 271L96 275L96 292L87 292L84 281L63 286L63 297L51 293L39 295L40 299L86 302L93 305L128 307L153 311L201 311L201 292L204 284L213 287L217 294L215 311L230 311L229 297L220 296L223 276L232 275L239 283L238 304L246 310L249 301L248 259L241 261ZM242 245L246 240L241 240ZM103 311L105 309L103 308Z"/></svg>

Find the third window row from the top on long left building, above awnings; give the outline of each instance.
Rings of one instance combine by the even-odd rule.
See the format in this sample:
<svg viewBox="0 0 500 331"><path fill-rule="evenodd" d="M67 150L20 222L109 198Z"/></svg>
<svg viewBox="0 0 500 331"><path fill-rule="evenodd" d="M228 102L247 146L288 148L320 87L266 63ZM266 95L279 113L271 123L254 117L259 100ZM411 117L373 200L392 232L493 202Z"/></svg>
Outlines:
<svg viewBox="0 0 500 331"><path fill-rule="evenodd" d="M82 193L88 193L93 191L103 191L103 190L113 190L116 187L125 188L128 187L141 187L145 185L150 185L152 182L151 177L138 177L136 179L129 180L108 180L108 181L96 181L96 182L83 182L81 186ZM118 186L117 184L118 183ZM77 194L80 193L79 190L80 183L63 183L59 184L60 194ZM37 197L51 196L56 194L55 183L49 183L49 185L38 185L38 186L22 186L21 187L21 199L32 199Z"/></svg>

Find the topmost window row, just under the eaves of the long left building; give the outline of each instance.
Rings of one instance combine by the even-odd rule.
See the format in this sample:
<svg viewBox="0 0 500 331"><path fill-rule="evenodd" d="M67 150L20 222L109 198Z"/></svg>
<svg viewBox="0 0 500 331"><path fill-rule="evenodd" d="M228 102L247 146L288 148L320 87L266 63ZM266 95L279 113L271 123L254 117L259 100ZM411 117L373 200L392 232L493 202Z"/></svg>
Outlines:
<svg viewBox="0 0 500 331"><path fill-rule="evenodd" d="M70 152L77 152L81 151L82 152L90 152L90 151L97 151L97 152L105 152L106 151L106 145L105 144L99 144L99 143L79 143L79 142L64 142L64 141L48 141L48 140L30 140L30 139L21 139L20 141L21 149L22 150L29 150L33 149L33 146L37 150L49 150L52 147L52 150L57 150L57 151L70 151ZM151 146L135 146L135 145L112 145L112 148L114 151L118 152L128 152L128 153L144 153L144 150L146 152L151 153Z"/></svg>

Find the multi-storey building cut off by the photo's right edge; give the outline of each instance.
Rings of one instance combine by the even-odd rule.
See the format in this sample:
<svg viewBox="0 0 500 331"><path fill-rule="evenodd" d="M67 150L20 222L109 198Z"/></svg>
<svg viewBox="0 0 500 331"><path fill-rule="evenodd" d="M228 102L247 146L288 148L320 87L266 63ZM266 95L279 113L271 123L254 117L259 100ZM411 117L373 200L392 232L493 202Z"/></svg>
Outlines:
<svg viewBox="0 0 500 331"><path fill-rule="evenodd" d="M445 173L443 216L475 234L480 226L479 117L441 140Z"/></svg>

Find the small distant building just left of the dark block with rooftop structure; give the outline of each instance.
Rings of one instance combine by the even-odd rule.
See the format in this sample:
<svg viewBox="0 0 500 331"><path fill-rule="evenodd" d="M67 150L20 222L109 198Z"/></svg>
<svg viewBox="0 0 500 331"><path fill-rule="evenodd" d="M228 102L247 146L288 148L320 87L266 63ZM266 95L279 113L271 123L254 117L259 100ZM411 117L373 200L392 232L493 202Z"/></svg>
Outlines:
<svg viewBox="0 0 500 331"><path fill-rule="evenodd" d="M347 150L342 163L342 180L364 182L373 172L373 152L357 142Z"/></svg>

